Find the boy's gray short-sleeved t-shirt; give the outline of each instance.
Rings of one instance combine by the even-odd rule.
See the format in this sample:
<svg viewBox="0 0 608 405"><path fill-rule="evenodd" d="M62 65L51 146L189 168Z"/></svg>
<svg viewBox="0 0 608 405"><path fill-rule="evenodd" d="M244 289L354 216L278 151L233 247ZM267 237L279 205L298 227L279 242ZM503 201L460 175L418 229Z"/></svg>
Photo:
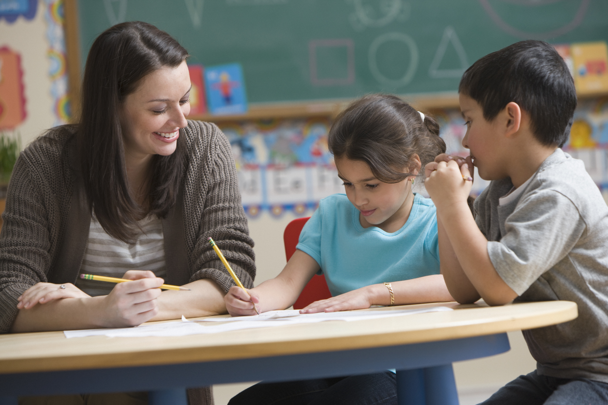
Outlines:
<svg viewBox="0 0 608 405"><path fill-rule="evenodd" d="M574 301L578 318L523 331L542 375L608 383L608 206L581 160L557 149L519 196L494 180L475 200L490 260L515 302Z"/></svg>

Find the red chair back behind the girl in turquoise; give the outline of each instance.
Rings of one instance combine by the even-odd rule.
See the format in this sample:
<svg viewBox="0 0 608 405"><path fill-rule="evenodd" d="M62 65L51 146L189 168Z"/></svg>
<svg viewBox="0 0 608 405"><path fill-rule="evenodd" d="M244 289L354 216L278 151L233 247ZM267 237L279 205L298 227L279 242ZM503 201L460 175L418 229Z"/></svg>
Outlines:
<svg viewBox="0 0 608 405"><path fill-rule="evenodd" d="M300 232L302 232L302 228L309 218L294 219L285 227L283 242L285 242L285 256L288 262L295 253L295 247L300 239ZM327 298L331 298L331 293L325 282L325 276L315 274L308 284L306 284L298 299L295 300L294 309L299 310L308 304Z"/></svg>

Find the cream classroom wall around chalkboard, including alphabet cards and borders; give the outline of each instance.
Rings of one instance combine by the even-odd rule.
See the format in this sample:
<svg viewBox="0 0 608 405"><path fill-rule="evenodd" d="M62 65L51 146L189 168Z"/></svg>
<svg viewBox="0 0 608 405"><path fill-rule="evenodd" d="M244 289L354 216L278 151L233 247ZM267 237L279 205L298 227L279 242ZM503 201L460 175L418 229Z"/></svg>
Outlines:
<svg viewBox="0 0 608 405"><path fill-rule="evenodd" d="M7 46L21 56L27 114L21 123L5 131L19 134L22 146L44 129L65 123L69 115L62 13L60 1L41 0L31 19L23 16L14 22L0 19L0 48ZM449 151L466 154L460 146L464 127L458 111L447 109L435 114ZM581 100L575 118L567 150L585 161L599 188L608 195L608 99ZM330 123L328 118L219 123L233 143L241 175L250 234L255 240L256 285L276 276L285 265L282 240L285 226L296 217L311 215L324 193L336 191L333 181L321 185L314 178L331 175L333 170L324 141ZM310 142L309 136L315 137L315 141ZM263 178L261 166L264 170L271 169L274 177L268 177L267 172ZM318 168L324 171L319 172ZM252 179L257 181L255 187ZM286 191L272 194L269 188L272 185ZM483 186L485 183L477 180L475 191L480 192ZM305 197L298 197L302 195ZM521 333L509 336L510 352L454 365L459 390L487 392L534 369L535 363ZM225 392L232 395L235 389ZM221 405L222 400L217 403Z"/></svg>

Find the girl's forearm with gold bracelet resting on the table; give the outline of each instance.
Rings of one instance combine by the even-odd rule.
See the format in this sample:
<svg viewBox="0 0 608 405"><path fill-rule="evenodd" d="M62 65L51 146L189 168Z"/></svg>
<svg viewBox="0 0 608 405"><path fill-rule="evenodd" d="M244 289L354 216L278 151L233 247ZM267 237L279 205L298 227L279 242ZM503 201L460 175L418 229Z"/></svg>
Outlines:
<svg viewBox="0 0 608 405"><path fill-rule="evenodd" d="M395 305L454 301L441 274L392 282L391 287ZM370 288L371 305L390 305L390 292L384 284L373 284L367 288Z"/></svg>

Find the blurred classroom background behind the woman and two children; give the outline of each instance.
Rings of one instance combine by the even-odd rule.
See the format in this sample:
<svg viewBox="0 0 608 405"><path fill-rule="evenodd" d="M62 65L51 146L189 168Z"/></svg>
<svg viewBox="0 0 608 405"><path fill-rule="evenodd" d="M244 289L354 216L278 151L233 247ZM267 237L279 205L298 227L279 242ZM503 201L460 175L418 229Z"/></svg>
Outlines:
<svg viewBox="0 0 608 405"><path fill-rule="evenodd" d="M603 0L0 0L0 211L19 151L77 120L92 41L133 20L191 54L188 118L216 123L232 143L256 285L285 265L287 223L344 191L326 135L350 101L400 95L437 117L448 152L466 156L458 81L522 39L548 41L570 67L579 104L564 149L608 197L606 15ZM475 194L486 185L475 177ZM461 404L534 369L521 333L509 338L508 353L454 364ZM215 386L216 404L250 384Z"/></svg>

